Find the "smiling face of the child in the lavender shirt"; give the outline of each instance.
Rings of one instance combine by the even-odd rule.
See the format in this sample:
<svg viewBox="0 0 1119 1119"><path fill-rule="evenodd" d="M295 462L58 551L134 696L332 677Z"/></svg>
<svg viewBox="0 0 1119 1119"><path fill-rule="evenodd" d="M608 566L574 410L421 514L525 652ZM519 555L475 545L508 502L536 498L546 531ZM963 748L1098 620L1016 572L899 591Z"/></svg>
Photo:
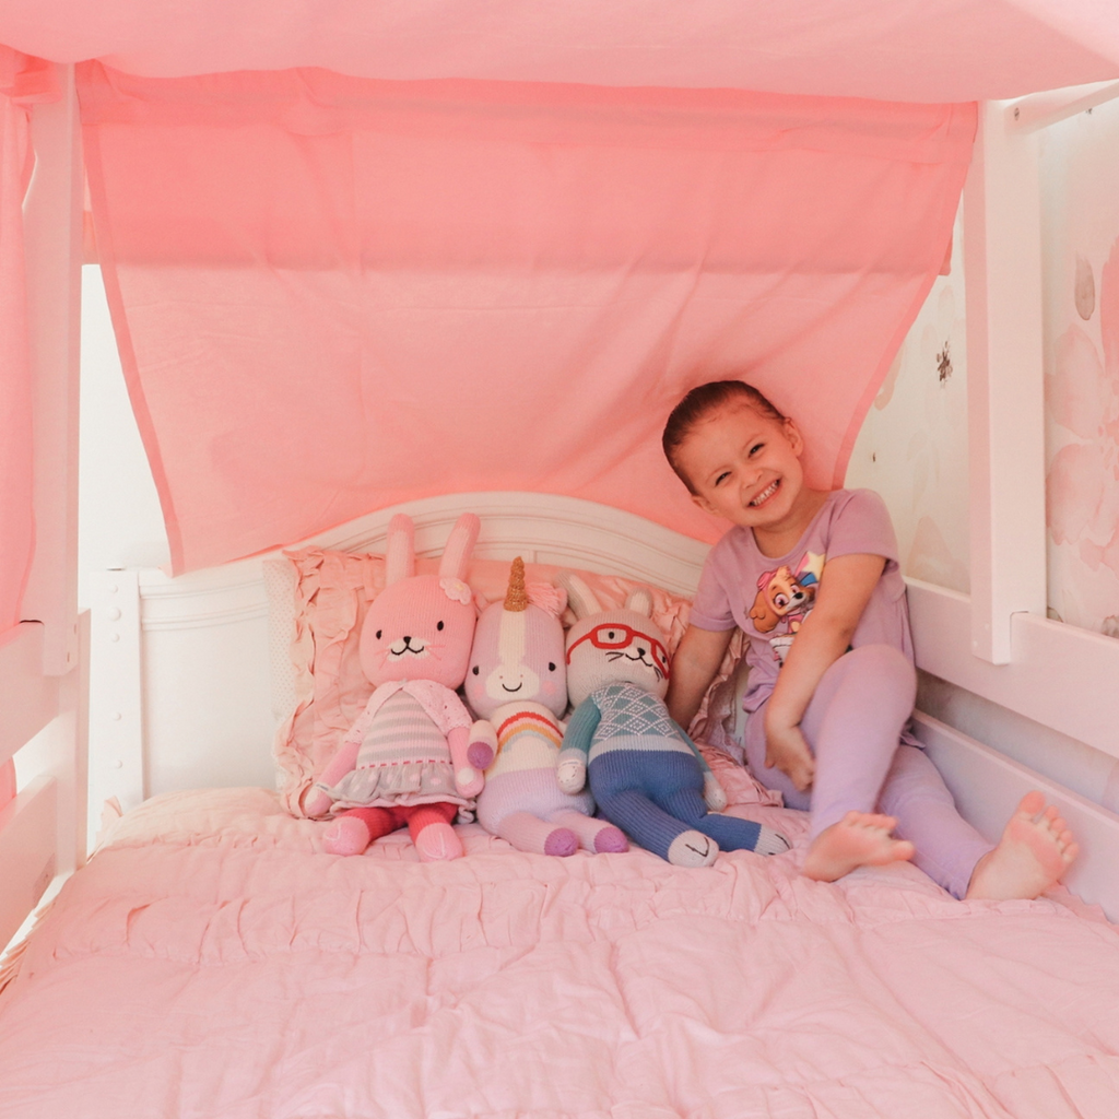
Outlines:
<svg viewBox="0 0 1119 1119"><path fill-rule="evenodd" d="M677 449L700 509L745 528L780 528L805 489L805 444L791 420L732 404L696 424Z"/></svg>

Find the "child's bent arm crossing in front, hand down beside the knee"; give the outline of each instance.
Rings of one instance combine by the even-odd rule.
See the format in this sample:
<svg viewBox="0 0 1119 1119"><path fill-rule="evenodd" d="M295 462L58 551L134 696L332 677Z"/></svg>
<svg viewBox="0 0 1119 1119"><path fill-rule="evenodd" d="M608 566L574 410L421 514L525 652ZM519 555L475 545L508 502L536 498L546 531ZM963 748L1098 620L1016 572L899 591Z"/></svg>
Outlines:
<svg viewBox="0 0 1119 1119"><path fill-rule="evenodd" d="M807 789L816 771L800 721L820 677L847 651L885 565L882 556L863 554L837 556L824 565L816 604L789 647L765 705L765 764L787 773L798 789Z"/></svg>

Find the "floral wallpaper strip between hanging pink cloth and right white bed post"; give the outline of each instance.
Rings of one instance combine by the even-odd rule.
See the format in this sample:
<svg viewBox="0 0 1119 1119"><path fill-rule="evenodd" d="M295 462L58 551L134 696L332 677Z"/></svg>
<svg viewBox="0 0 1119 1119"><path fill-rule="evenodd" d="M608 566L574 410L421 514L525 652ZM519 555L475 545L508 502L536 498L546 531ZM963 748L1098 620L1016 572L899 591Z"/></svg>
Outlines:
<svg viewBox="0 0 1119 1119"><path fill-rule="evenodd" d="M906 575L969 590L962 235L863 423L846 485L890 508Z"/></svg>

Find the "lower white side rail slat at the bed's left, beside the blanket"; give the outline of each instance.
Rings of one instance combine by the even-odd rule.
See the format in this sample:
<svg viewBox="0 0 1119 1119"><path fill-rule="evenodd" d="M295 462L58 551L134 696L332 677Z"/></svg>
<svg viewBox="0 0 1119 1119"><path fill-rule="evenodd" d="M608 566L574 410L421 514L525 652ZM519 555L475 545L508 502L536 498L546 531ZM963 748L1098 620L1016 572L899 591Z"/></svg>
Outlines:
<svg viewBox="0 0 1119 1119"><path fill-rule="evenodd" d="M23 923L55 876L58 784L32 781L0 811L0 947Z"/></svg>

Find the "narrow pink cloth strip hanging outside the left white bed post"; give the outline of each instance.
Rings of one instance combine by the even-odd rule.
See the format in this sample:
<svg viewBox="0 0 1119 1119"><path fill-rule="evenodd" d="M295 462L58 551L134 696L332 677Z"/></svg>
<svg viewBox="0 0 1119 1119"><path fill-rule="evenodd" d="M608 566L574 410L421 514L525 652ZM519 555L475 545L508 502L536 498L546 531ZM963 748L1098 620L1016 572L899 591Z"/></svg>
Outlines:
<svg viewBox="0 0 1119 1119"><path fill-rule="evenodd" d="M22 217L32 161L25 106L51 91L48 67L0 47L0 636L20 620L35 546Z"/></svg>

